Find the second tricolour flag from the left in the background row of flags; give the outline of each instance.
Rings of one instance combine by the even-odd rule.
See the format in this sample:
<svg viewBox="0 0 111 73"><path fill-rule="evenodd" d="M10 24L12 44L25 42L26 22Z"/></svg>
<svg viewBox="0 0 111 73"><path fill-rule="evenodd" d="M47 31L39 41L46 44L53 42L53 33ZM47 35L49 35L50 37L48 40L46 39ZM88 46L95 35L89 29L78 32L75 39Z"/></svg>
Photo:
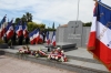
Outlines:
<svg viewBox="0 0 111 73"><path fill-rule="evenodd" d="M13 33L14 33L13 27L12 27L12 21L13 21L13 20L11 20L11 21L8 23L8 25L7 25L7 39L12 38L12 35L13 35Z"/></svg>

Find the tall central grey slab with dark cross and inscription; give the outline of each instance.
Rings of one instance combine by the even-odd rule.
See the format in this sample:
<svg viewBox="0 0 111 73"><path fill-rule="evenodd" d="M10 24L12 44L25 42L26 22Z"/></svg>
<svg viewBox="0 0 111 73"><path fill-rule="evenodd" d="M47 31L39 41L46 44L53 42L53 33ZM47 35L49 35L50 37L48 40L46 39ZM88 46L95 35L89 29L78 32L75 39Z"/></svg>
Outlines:
<svg viewBox="0 0 111 73"><path fill-rule="evenodd" d="M82 22L81 21L69 21L68 22L68 42L77 43L77 46L81 46L82 35Z"/></svg>

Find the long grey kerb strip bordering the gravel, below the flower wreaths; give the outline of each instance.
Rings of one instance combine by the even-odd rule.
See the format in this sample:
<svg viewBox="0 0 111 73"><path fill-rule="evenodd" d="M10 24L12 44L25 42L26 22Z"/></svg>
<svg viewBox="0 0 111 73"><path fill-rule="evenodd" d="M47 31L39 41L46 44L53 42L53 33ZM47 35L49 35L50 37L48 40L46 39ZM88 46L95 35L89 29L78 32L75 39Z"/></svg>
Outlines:
<svg viewBox="0 0 111 73"><path fill-rule="evenodd" d="M21 55L18 55L17 53L11 53L11 52L6 52L4 54L8 56L12 56L12 58L34 62L34 63L40 63L43 65L54 66L54 67L59 67L59 69L63 69L63 70L74 71L74 72L79 72L79 73L108 73L105 71L99 71L99 70L93 70L93 69L89 69L89 67L82 67L79 65L68 64L65 62L64 63L56 62L56 61L47 60L44 58L36 58L32 55L21 56Z"/></svg>

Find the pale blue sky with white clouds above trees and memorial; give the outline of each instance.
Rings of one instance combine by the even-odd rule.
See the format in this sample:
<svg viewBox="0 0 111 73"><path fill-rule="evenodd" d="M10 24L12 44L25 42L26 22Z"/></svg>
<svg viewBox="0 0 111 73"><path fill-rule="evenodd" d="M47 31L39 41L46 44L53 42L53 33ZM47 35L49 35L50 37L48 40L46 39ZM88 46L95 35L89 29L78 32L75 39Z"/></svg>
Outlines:
<svg viewBox="0 0 111 73"><path fill-rule="evenodd" d="M79 12L78 12L79 2ZM101 0L111 7L111 0ZM21 18L30 12L33 22L44 23L46 27L56 28L67 24L69 21L91 22L93 17L93 0L0 0L0 20L7 14L7 19Z"/></svg>

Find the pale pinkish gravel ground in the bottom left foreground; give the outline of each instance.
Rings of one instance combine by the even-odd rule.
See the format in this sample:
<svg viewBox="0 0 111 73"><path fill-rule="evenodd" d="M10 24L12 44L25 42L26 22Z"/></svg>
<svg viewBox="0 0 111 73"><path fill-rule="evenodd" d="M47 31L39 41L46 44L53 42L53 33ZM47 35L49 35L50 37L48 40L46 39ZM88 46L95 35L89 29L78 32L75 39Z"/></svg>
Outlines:
<svg viewBox="0 0 111 73"><path fill-rule="evenodd" d="M29 61L0 55L0 73L75 73Z"/></svg>

